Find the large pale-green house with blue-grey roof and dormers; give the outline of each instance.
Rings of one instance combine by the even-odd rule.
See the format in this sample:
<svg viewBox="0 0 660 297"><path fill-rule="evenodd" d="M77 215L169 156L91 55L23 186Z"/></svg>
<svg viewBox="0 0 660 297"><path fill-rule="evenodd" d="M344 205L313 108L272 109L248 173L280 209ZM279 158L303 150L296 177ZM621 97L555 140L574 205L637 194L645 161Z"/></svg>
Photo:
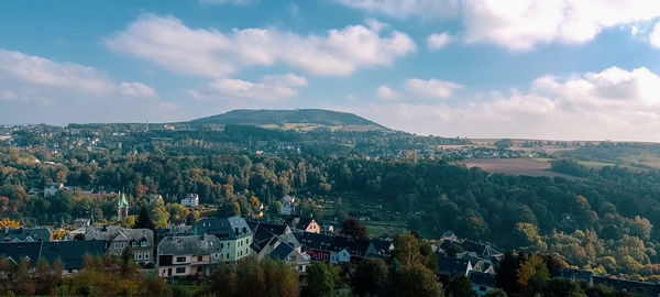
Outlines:
<svg viewBox="0 0 660 297"><path fill-rule="evenodd" d="M195 235L213 235L220 240L226 254L223 262L234 262L251 254L253 233L240 217L204 219L195 223Z"/></svg>

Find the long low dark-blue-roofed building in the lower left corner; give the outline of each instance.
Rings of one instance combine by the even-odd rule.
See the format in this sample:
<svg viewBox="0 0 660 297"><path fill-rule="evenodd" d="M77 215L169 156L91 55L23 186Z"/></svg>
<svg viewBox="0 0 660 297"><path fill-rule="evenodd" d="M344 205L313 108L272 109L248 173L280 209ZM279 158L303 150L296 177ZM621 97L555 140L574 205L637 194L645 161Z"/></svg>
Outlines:
<svg viewBox="0 0 660 297"><path fill-rule="evenodd" d="M62 261L63 275L77 273L84 266L85 255L100 256L106 248L105 241L54 241L54 242L1 242L0 256L18 264L21 258L36 266L40 258L54 263Z"/></svg>

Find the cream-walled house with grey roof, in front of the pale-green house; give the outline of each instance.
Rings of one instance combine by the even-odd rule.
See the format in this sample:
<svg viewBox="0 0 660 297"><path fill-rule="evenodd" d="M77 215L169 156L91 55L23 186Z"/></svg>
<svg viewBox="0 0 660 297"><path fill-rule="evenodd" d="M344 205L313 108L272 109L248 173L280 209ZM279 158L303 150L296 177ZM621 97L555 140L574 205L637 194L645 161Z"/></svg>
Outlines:
<svg viewBox="0 0 660 297"><path fill-rule="evenodd" d="M212 265L229 257L213 235L167 237L158 243L157 270L163 277L209 276Z"/></svg>

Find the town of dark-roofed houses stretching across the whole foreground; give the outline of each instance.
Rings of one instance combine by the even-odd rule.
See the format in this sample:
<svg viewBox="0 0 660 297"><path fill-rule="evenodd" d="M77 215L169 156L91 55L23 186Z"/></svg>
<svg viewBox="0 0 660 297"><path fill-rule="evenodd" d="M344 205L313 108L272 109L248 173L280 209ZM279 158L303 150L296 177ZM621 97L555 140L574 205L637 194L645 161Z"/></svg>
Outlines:
<svg viewBox="0 0 660 297"><path fill-rule="evenodd" d="M61 183L50 183L35 195L47 197L68 190L72 189ZM431 284L444 289L449 296L505 296L502 288L507 284L503 283L503 278L507 274L510 275L512 272L506 270L512 268L512 257L515 257L510 253L505 255L488 242L460 239L452 231L446 231L432 240L422 240L414 233L398 234L396 238L370 238L360 222L367 218L349 218L337 227L321 224L312 216L301 217L297 207L299 202L288 195L280 199L278 216L274 221L263 220L263 206L260 205L260 211L251 217L218 217L206 209L204 211L208 217L195 218L190 212L186 222L170 223L167 228L156 228L145 209L140 211L138 218L129 216L132 202L125 194L120 193L117 196L119 200L114 223L97 222L94 213L90 213L89 218L76 219L74 226L57 230L24 228L7 219L0 221L3 226L0 242L0 278L3 285L0 285L0 293L43 294L44 292L37 292L36 287L25 286L25 283L21 282L38 279L42 277L40 274L43 273L44 265L48 264L56 270L53 272L57 274L56 278L75 277L90 270L94 265L90 263L95 263L94 257L107 258L103 260L103 265L108 265L108 258L122 258L127 263L134 263L136 273L141 275L160 277L170 285L191 287L202 287L213 282L217 271L223 266L267 258L285 263L295 272L302 288L300 292L309 296L348 295L351 290L353 295L384 296L384 279L372 279L375 287L367 288L360 283L363 279L355 280L364 277L360 275L364 273L361 270L365 270L361 265L373 261L382 265L405 265L413 261L409 258L413 251L406 244L413 244L410 246L417 246L414 248L417 250L416 257L432 261L425 264L431 267ZM162 199L157 195L152 196L151 204L162 204ZM196 194L188 194L182 198L180 206L193 211L206 208L199 205L199 196ZM136 227L138 224L142 228ZM520 267L540 258L540 255L532 254L517 256L518 260L515 261L520 262ZM548 264L552 270L548 277L565 279L574 283L573 286L595 286L600 289L610 287L646 296L660 294L660 285L656 283L598 276L591 271L571 267L558 257L542 256L550 263L554 261L554 266ZM425 263L425 260L421 262ZM319 286L315 283L319 277L315 275L319 273L318 267L314 266L315 263L338 267L340 274L352 280L343 280L343 284L334 280L338 284L333 286ZM516 274L520 277L521 268L513 268L513 280L516 282ZM421 277L415 282L429 279ZM402 286L405 288L406 285ZM425 296L431 296L435 292L415 287L417 285L405 292L417 289L413 292ZM130 290L116 294L131 295ZM180 294L191 293L184 290Z"/></svg>

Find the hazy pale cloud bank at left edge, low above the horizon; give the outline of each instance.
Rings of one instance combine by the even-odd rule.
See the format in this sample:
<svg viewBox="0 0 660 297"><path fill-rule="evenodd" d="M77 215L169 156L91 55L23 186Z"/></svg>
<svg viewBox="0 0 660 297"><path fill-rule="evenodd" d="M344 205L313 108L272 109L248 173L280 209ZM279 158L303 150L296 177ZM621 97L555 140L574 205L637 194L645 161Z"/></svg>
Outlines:
<svg viewBox="0 0 660 297"><path fill-rule="evenodd" d="M0 102L3 123L143 121L182 114L142 82L116 82L94 67L6 50L0 50Z"/></svg>

